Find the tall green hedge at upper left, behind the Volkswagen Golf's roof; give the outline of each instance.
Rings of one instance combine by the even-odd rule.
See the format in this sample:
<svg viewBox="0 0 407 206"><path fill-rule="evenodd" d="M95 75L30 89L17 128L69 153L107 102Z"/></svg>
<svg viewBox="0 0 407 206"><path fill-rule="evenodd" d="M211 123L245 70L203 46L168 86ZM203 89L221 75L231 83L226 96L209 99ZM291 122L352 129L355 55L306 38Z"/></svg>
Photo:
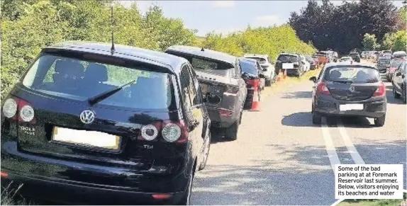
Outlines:
<svg viewBox="0 0 407 206"><path fill-rule="evenodd" d="M113 1L4 0L1 2L1 97L35 59L40 50L65 40L111 42ZM196 30L179 19L166 18L152 6L142 16L136 4L114 4L117 44L163 50L169 45L192 45Z"/></svg>

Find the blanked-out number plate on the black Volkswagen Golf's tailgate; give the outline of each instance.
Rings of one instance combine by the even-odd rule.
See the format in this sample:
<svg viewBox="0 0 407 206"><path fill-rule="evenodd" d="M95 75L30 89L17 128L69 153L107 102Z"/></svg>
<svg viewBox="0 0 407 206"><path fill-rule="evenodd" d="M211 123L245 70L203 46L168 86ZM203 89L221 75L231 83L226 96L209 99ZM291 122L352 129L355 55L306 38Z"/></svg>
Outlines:
<svg viewBox="0 0 407 206"><path fill-rule="evenodd" d="M82 147L99 147L118 150L120 137L104 132L72 130L63 127L54 127L52 140L65 142Z"/></svg>

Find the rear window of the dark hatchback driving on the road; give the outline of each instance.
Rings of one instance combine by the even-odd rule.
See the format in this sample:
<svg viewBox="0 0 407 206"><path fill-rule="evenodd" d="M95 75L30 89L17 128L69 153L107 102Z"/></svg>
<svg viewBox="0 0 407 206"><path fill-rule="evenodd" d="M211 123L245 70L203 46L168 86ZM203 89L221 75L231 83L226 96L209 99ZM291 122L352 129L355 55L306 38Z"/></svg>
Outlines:
<svg viewBox="0 0 407 206"><path fill-rule="evenodd" d="M353 83L374 83L380 79L377 69L370 67L330 67L325 71L326 81L350 81Z"/></svg>

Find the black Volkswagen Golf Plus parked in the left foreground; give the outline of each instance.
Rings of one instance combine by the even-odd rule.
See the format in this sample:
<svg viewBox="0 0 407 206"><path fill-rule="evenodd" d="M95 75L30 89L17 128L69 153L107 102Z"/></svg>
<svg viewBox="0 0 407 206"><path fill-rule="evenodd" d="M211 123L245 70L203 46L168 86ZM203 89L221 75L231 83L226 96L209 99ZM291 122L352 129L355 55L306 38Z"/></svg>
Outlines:
<svg viewBox="0 0 407 206"><path fill-rule="evenodd" d="M46 47L1 109L1 184L74 204L188 205L211 122L194 70L162 52Z"/></svg>

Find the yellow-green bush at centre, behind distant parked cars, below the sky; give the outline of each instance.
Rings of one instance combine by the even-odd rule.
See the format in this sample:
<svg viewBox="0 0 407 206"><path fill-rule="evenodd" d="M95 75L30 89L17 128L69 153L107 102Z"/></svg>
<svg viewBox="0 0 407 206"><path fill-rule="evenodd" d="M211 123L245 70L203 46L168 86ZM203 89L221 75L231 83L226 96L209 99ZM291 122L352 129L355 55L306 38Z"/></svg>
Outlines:
<svg viewBox="0 0 407 206"><path fill-rule="evenodd" d="M311 43L302 42L289 25L266 28L247 28L238 33L223 36L208 33L202 42L205 48L241 56L245 53L267 54L277 59L281 52L299 52L311 55L316 52Z"/></svg>

